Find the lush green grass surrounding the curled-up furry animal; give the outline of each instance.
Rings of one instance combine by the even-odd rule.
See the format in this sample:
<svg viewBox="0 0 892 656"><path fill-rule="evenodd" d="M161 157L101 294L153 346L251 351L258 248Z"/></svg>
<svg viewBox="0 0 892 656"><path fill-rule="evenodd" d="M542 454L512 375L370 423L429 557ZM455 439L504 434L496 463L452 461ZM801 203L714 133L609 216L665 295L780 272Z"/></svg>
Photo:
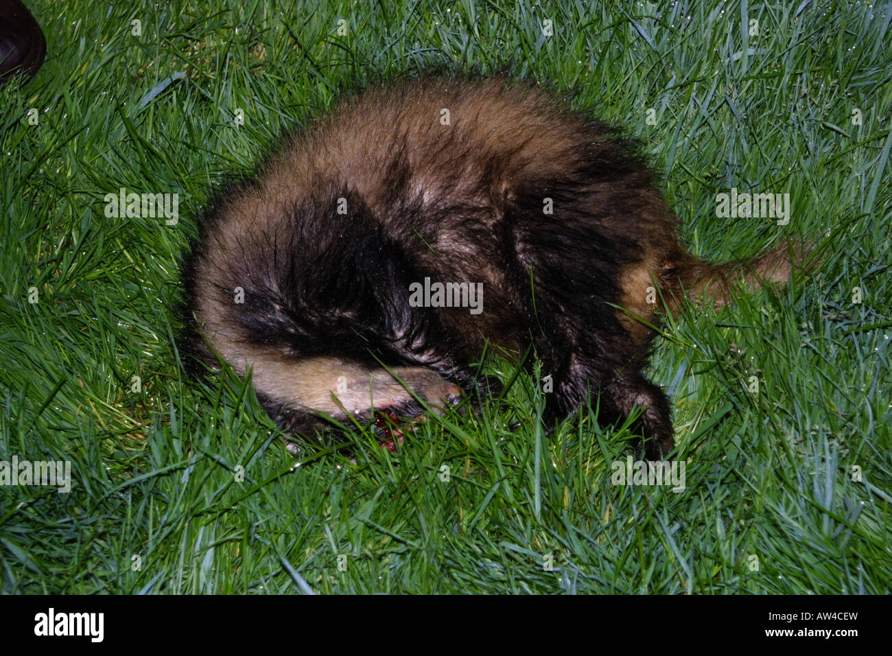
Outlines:
<svg viewBox="0 0 892 656"><path fill-rule="evenodd" d="M888 4L298 4L29 2L47 61L0 87L0 460L68 460L74 483L0 487L0 592L888 593ZM250 385L186 378L172 308L204 203L339 89L438 64L640 137L707 259L829 236L795 286L665 327L684 492L612 485L633 436L593 410L544 436L525 374L508 410L293 471ZM105 217L120 187L178 193L178 224ZM717 218L731 187L789 193L789 225Z"/></svg>

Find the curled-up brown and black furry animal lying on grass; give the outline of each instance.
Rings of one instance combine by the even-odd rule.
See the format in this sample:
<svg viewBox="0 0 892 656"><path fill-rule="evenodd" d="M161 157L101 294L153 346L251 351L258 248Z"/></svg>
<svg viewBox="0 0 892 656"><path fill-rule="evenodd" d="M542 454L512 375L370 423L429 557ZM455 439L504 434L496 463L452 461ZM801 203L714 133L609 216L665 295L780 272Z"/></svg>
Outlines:
<svg viewBox="0 0 892 656"><path fill-rule="evenodd" d="M640 406L657 458L673 428L641 373L664 310L654 290L669 310L704 292L723 303L734 278L786 282L790 258L700 262L613 130L530 85L431 77L372 88L294 138L219 203L186 271L191 350L252 370L295 433L320 413L417 415L401 380L434 406L456 403L478 384L469 364L484 347L532 343L554 382L549 428L599 394L604 422ZM483 312L410 307L425 277L482 282Z"/></svg>

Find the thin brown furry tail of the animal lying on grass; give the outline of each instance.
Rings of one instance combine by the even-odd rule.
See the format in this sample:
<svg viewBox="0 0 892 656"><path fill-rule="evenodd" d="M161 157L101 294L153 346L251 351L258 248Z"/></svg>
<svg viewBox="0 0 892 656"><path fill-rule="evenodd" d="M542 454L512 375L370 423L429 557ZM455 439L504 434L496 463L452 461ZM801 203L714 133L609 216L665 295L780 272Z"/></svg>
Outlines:
<svg viewBox="0 0 892 656"><path fill-rule="evenodd" d="M752 293L766 283L786 285L794 270L814 270L818 263L813 253L817 241L783 241L752 260L722 264L678 253L669 259L661 274L665 308L677 316L682 298L720 308L734 302L735 286L742 285Z"/></svg>

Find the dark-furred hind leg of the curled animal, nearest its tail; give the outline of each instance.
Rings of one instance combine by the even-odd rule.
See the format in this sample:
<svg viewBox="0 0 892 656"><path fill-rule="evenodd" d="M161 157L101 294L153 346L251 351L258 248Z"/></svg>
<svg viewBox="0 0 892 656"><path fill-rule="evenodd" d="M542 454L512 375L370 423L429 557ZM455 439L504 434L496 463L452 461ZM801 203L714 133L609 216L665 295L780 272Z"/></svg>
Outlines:
<svg viewBox="0 0 892 656"><path fill-rule="evenodd" d="M519 203L516 214L509 215L516 270L522 274L516 275L516 285L529 286L532 270L535 297L524 301L543 372L554 378L543 419L551 428L554 419L575 411L590 392L599 394L604 425L640 406L636 429L646 440L648 458L662 458L673 448L669 403L640 373L654 336L648 327L654 310L646 300L656 266L647 254L652 248L633 236L618 237L619 228L601 228L601 222L615 220L615 212L590 214L598 203L605 201L591 197L581 202L572 194L563 203L556 199L556 206L566 209L551 229L538 207L532 213L525 209L535 206L533 200ZM632 212L630 224L636 220Z"/></svg>

